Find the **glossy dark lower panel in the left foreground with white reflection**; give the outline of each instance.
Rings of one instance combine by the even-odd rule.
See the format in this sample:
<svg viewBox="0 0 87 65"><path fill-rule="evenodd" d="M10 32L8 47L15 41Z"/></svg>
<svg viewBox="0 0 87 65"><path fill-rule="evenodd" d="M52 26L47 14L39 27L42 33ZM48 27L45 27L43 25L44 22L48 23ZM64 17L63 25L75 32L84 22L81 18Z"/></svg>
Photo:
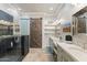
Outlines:
<svg viewBox="0 0 87 65"><path fill-rule="evenodd" d="M0 62L18 62L20 57L20 36L0 39Z"/></svg>

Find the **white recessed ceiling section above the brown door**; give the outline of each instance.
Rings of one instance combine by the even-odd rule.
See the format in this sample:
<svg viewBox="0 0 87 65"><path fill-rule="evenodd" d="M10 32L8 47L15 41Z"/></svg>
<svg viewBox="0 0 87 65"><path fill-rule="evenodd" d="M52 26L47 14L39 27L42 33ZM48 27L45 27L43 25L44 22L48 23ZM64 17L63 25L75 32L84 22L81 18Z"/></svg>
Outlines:
<svg viewBox="0 0 87 65"><path fill-rule="evenodd" d="M11 3L10 6L19 8L25 13L43 13L54 15L61 10L63 3Z"/></svg>

